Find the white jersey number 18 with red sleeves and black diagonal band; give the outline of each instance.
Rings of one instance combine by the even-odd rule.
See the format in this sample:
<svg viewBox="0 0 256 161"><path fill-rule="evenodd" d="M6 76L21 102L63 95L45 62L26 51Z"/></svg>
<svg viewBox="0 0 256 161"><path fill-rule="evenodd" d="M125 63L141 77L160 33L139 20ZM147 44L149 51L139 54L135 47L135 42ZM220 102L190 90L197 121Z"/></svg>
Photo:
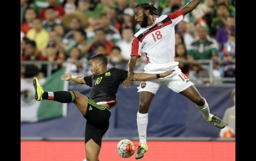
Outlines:
<svg viewBox="0 0 256 161"><path fill-rule="evenodd" d="M134 35L131 56L141 56L141 49L145 52L149 63L169 63L175 58L175 30L174 27L182 19L182 9L177 12L153 18L152 26L141 28Z"/></svg>

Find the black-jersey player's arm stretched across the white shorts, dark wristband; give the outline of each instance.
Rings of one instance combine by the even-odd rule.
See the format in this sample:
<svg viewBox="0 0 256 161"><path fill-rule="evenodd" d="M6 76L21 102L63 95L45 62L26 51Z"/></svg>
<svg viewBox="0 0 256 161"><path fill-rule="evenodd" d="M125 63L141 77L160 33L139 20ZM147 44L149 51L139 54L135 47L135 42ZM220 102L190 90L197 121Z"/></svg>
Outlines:
<svg viewBox="0 0 256 161"><path fill-rule="evenodd" d="M159 76L157 76L157 74L147 74L147 73L134 73L134 77L135 80L137 81L144 81L144 80L149 80L149 79L157 79L157 78L164 78L170 74L172 74L175 70L169 70L167 72L161 73L159 74Z"/></svg>

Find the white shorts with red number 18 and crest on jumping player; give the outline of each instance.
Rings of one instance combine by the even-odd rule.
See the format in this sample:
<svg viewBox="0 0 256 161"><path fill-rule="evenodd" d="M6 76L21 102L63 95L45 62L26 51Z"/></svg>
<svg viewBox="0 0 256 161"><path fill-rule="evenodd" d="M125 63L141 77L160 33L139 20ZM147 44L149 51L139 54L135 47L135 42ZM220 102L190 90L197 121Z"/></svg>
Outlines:
<svg viewBox="0 0 256 161"><path fill-rule="evenodd" d="M161 74L168 70L175 69L175 71L165 78L158 78L152 80L145 80L141 82L138 92L148 91L156 95L159 87L165 84L174 92L180 93L188 87L194 85L189 78L181 72L178 67L179 62L170 62L165 64L148 63L144 66L144 73Z"/></svg>

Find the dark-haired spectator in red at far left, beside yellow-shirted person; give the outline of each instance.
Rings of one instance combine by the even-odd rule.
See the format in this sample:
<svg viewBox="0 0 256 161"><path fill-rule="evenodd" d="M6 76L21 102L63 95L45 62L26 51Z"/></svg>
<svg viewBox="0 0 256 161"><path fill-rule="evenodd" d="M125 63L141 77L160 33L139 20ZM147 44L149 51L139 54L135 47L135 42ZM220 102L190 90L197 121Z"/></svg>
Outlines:
<svg viewBox="0 0 256 161"><path fill-rule="evenodd" d="M24 34L27 34L27 32L33 28L33 20L37 17L37 14L34 9L27 8L25 10L25 22L21 25L21 31Z"/></svg>

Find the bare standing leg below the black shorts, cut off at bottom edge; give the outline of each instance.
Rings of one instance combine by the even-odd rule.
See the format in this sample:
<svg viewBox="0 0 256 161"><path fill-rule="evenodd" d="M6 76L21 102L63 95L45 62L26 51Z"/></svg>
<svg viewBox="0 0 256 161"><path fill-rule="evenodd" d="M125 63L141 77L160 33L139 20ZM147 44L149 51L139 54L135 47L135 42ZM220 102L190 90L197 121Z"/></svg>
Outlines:
<svg viewBox="0 0 256 161"><path fill-rule="evenodd" d="M98 161L100 146L90 139L85 143L85 152L87 161Z"/></svg>

